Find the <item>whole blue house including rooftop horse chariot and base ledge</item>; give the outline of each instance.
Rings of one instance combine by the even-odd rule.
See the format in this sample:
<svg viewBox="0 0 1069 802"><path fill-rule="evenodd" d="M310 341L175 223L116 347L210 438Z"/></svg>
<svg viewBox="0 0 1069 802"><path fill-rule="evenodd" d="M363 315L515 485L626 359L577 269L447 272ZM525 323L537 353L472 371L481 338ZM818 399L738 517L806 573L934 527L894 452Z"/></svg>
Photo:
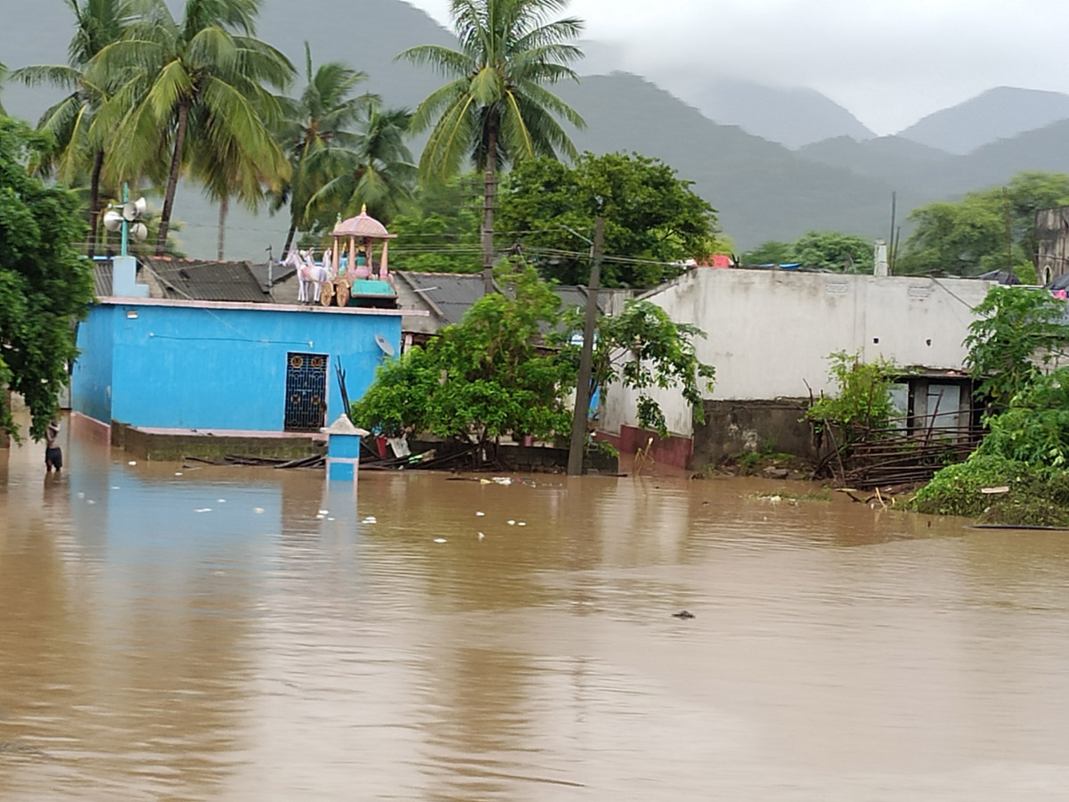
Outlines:
<svg viewBox="0 0 1069 802"><path fill-rule="evenodd" d="M402 315L425 314L398 307L390 238L362 211L321 260L292 251L272 265L298 278L289 303L247 262L100 263L78 327L78 425L142 459L322 449L325 427L400 353Z"/></svg>

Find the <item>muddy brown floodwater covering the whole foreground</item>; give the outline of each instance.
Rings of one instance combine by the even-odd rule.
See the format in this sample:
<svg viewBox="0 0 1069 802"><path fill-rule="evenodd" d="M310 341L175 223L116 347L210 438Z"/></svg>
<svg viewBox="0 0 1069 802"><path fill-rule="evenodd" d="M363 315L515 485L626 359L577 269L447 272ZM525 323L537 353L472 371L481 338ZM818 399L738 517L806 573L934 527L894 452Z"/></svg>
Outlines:
<svg viewBox="0 0 1069 802"><path fill-rule="evenodd" d="M67 432L0 453L4 802L1069 795L1065 534Z"/></svg>

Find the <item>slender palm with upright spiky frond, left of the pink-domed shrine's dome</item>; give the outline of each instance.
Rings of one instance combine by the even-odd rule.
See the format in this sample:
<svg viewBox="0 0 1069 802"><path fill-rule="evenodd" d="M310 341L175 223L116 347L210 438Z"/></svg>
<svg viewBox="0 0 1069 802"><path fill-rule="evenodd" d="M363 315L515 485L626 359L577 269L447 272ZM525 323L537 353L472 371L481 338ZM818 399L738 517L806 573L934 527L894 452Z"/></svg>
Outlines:
<svg viewBox="0 0 1069 802"><path fill-rule="evenodd" d="M359 123L366 106L374 99L374 95L356 94L367 77L340 61L321 64L313 71L312 50L305 43L307 86L300 97L282 101L284 120L279 129L279 138L290 158L291 175L272 197L273 211L285 205L290 207L290 230L282 247L283 255L290 251L297 230L309 227L309 199L337 176L329 159L319 154L329 148L356 144L351 128Z"/></svg>

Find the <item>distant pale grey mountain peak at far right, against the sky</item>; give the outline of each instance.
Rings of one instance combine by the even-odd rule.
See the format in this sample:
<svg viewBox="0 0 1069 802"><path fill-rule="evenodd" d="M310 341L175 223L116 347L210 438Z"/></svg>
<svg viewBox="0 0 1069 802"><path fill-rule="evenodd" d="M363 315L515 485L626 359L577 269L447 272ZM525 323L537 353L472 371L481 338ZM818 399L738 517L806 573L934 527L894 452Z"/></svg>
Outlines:
<svg viewBox="0 0 1069 802"><path fill-rule="evenodd" d="M998 87L921 119L898 136L958 155L1069 119L1069 95Z"/></svg>

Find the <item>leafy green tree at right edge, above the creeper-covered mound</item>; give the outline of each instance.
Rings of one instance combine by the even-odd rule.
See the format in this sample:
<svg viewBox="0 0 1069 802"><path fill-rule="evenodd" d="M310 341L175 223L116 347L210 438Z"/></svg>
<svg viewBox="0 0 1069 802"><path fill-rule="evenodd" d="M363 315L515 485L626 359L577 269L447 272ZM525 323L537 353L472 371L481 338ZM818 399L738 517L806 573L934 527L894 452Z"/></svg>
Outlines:
<svg viewBox="0 0 1069 802"><path fill-rule="evenodd" d="M992 287L973 309L979 317L964 343L977 394L1006 408L1032 384L1069 342L1065 308L1044 290Z"/></svg>

